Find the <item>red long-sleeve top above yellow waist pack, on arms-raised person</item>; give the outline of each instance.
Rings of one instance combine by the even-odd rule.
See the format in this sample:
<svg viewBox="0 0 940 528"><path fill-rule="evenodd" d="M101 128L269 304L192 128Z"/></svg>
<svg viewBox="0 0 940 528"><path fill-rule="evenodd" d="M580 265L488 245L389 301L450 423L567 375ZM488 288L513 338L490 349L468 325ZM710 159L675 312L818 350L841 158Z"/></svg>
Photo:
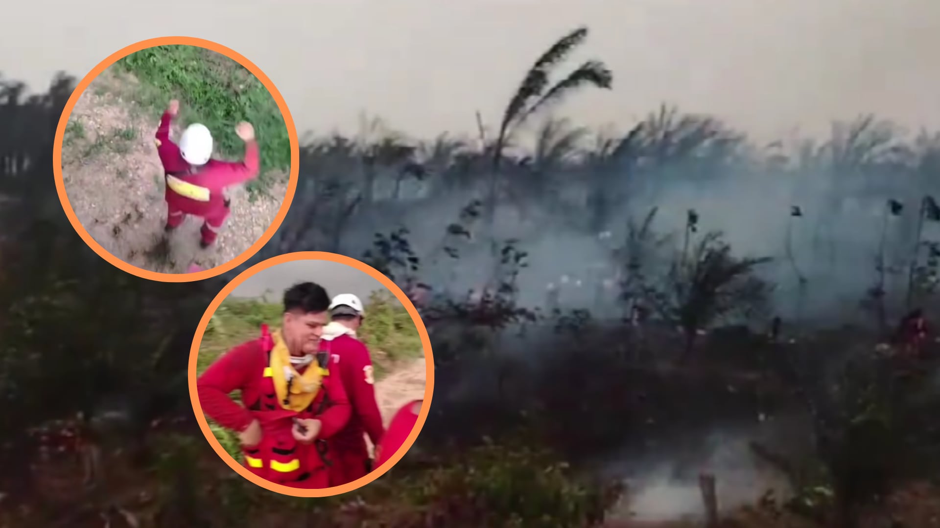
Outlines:
<svg viewBox="0 0 940 528"><path fill-rule="evenodd" d="M164 164L164 171L180 179L205 187L212 194L220 194L226 187L243 183L258 176L260 156L258 142L247 141L244 144L244 160L242 162L220 162L210 160L209 163L199 167L195 174L187 174L189 163L182 158L180 147L170 139L170 125L173 116L164 112L160 118L160 128L157 129L157 154L160 162Z"/></svg>

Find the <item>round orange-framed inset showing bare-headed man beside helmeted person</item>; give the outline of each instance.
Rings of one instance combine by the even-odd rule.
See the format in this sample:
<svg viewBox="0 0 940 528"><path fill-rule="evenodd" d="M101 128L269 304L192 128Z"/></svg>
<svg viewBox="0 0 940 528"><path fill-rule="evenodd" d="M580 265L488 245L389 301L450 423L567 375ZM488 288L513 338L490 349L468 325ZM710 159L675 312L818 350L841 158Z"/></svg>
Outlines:
<svg viewBox="0 0 940 528"><path fill-rule="evenodd" d="M415 442L434 387L431 341L391 280L348 256L275 256L219 292L189 361L196 420L258 486L357 489Z"/></svg>

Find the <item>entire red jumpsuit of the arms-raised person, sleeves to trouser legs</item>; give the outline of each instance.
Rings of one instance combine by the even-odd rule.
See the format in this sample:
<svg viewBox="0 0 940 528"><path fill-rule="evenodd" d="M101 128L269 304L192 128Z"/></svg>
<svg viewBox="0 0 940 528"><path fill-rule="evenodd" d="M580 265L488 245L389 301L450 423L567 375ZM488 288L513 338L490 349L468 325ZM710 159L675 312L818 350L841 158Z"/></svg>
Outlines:
<svg viewBox="0 0 940 528"><path fill-rule="evenodd" d="M179 226L187 214L198 216L204 220L200 232L202 242L208 245L218 237L219 230L228 216L228 205L223 190L258 175L258 142L252 140L245 143L243 162L210 160L194 172L190 164L182 158L180 147L170 140L172 121L173 116L164 112L156 134L157 153L166 173L166 228ZM194 198L174 191L171 185L180 181L183 186L202 195Z"/></svg>

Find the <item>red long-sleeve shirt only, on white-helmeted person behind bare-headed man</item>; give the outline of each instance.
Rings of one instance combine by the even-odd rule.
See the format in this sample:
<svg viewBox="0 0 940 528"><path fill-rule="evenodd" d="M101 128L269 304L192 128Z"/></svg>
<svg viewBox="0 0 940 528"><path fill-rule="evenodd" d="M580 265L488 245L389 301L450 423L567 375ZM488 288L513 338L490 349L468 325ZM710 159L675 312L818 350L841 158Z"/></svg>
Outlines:
<svg viewBox="0 0 940 528"><path fill-rule="evenodd" d="M373 445L378 445L384 435L382 412L375 400L372 359L366 345L351 335L339 335L329 343L330 353L335 358L331 365L338 367L352 406L349 423L333 437L331 443L337 450L366 453L363 432L368 434Z"/></svg>

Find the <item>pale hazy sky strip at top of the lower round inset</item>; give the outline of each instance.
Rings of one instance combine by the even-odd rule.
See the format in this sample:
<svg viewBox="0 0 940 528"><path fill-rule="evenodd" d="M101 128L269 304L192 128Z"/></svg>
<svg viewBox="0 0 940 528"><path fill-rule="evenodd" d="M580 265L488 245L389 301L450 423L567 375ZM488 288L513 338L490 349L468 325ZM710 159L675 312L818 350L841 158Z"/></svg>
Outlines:
<svg viewBox="0 0 940 528"><path fill-rule="evenodd" d="M354 293L368 303L368 295L376 290L387 290L367 273L329 260L295 260L272 266L248 277L231 295L259 297L272 291L271 300L280 302L284 290L299 282L315 282L326 288L330 297L340 293Z"/></svg>

